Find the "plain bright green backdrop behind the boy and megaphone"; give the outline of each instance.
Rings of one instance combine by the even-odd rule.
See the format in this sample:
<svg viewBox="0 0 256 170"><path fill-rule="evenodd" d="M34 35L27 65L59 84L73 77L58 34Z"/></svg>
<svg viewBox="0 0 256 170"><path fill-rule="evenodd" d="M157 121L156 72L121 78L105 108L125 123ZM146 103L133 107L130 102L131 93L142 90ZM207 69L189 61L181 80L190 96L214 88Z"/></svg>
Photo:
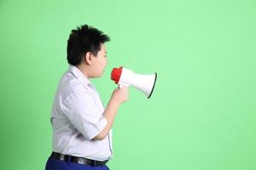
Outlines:
<svg viewBox="0 0 256 170"><path fill-rule="evenodd" d="M150 99L130 88L113 126L111 169L256 169L253 0L0 1L0 169L44 169L49 116L70 31L111 37L91 80L104 105L113 67L158 73Z"/></svg>

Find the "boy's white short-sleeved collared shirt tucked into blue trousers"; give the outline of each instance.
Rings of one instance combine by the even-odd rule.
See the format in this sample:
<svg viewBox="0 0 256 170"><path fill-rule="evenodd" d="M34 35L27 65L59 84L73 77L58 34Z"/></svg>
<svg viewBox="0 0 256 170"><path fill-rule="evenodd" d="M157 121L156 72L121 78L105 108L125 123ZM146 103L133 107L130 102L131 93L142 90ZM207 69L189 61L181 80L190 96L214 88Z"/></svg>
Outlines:
<svg viewBox="0 0 256 170"><path fill-rule="evenodd" d="M52 107L52 149L96 161L112 157L112 130L102 140L91 140L107 125L100 95L73 65L61 77Z"/></svg>

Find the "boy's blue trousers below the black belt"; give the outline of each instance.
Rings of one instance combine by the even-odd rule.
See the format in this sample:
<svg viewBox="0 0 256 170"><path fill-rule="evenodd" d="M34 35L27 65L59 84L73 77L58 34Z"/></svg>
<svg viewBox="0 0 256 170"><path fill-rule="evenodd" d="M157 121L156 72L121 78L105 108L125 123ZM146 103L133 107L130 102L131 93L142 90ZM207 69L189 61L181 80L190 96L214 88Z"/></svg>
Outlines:
<svg viewBox="0 0 256 170"><path fill-rule="evenodd" d="M49 157L45 170L109 170L109 168L106 165L90 166L70 161L59 161Z"/></svg>

